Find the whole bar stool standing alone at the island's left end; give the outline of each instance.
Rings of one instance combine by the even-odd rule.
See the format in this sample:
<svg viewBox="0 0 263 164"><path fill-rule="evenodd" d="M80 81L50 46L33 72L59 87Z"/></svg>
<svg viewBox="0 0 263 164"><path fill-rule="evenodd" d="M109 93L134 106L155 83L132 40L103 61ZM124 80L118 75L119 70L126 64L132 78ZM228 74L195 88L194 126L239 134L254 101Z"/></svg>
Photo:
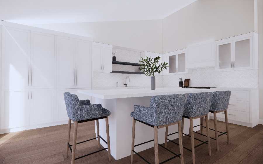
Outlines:
<svg viewBox="0 0 263 164"><path fill-rule="evenodd" d="M101 107L101 104L90 104L89 100L80 100L77 97L77 95L70 94L69 92L64 93L64 100L66 104L66 109L68 113L68 140L67 140L67 145L66 145L66 158L68 158L68 149L72 152L71 156L71 164L75 163L75 160L79 158L83 158L86 156L89 156L91 154L97 153L99 151L103 151L108 149L108 158L109 161L111 160L110 156L110 135L109 135L109 121L108 121L108 116L110 116L110 111L107 109L104 109ZM106 120L106 133L107 133L107 142L99 135L99 124L98 120L105 118ZM74 133L73 133L73 144L70 145L70 128L71 128L71 120L74 122ZM77 128L78 128L78 123L84 123L87 121L94 121L96 120L97 123L97 134L98 137L88 139L86 141L82 141L79 143L76 143L77 140ZM81 144L83 142L87 142L93 139L98 138L98 148L100 148L100 138L108 144L108 148L101 149L89 154L86 154L84 156L80 156L75 158L75 151L76 151L76 144ZM71 149L72 146L72 149Z"/></svg>

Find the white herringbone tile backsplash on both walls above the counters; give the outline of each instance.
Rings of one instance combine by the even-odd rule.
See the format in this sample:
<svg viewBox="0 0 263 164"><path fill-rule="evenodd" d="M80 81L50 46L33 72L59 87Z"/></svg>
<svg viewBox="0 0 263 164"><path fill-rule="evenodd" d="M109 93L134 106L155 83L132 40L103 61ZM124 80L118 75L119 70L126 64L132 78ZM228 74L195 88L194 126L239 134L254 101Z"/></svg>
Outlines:
<svg viewBox="0 0 263 164"><path fill-rule="evenodd" d="M117 61L138 63L141 53L113 48ZM138 71L139 67L113 64L115 71ZM115 74L99 73L93 74L93 86L115 87L116 82L119 86L124 86L126 76L129 76L130 82L127 86L150 87L150 77L138 74ZM212 68L191 69L187 74L155 76L156 87L161 86L179 86L179 78L190 78L189 86L209 86L209 87L229 87L229 88L258 88L258 70L232 70L217 71Z"/></svg>

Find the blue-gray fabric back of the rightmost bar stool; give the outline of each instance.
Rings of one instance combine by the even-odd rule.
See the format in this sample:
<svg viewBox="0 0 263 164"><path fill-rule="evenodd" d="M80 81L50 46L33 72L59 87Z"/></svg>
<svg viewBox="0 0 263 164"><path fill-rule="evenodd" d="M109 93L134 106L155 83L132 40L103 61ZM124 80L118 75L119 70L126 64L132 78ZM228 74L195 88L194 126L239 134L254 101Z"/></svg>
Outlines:
<svg viewBox="0 0 263 164"><path fill-rule="evenodd" d="M213 93L210 111L223 111L228 108L231 91L218 91Z"/></svg>

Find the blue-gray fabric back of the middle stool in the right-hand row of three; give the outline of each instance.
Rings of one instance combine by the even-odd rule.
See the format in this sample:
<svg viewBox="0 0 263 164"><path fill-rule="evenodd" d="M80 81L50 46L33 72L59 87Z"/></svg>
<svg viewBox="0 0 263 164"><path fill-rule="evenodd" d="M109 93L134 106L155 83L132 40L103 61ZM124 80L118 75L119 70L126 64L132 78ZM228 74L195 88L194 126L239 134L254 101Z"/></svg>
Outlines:
<svg viewBox="0 0 263 164"><path fill-rule="evenodd" d="M184 116L196 117L208 114L213 93L190 93L184 105Z"/></svg>

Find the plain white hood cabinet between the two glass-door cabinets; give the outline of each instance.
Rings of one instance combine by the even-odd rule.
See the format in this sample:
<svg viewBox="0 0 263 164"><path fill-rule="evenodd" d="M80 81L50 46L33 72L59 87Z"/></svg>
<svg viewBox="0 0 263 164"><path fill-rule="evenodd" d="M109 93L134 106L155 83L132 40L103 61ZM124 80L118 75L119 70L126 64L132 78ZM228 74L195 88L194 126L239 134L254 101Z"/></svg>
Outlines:
<svg viewBox="0 0 263 164"><path fill-rule="evenodd" d="M187 47L187 68L202 68L215 66L215 46L206 42Z"/></svg>

